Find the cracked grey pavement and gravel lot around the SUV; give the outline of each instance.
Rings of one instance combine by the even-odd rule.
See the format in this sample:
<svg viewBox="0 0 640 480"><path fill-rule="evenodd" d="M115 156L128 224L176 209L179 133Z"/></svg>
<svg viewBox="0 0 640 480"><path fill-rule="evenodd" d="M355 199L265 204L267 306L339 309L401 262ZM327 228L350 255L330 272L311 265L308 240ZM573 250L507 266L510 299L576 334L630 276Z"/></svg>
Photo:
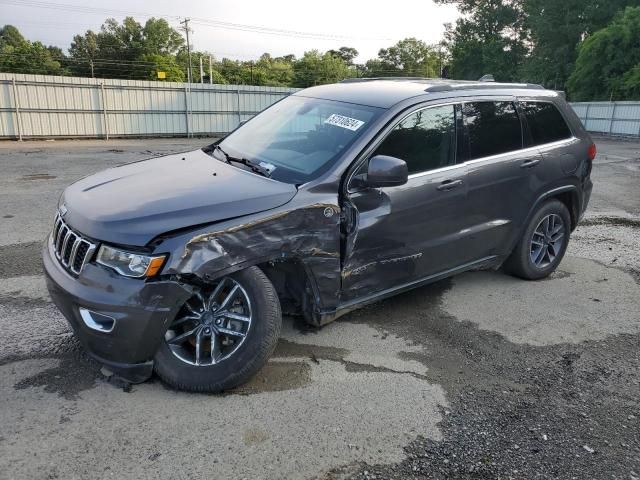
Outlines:
<svg viewBox="0 0 640 480"><path fill-rule="evenodd" d="M320 330L225 395L110 382L50 303L62 189L204 140L0 143L0 478L640 479L640 142L598 141L549 279L471 272Z"/></svg>

